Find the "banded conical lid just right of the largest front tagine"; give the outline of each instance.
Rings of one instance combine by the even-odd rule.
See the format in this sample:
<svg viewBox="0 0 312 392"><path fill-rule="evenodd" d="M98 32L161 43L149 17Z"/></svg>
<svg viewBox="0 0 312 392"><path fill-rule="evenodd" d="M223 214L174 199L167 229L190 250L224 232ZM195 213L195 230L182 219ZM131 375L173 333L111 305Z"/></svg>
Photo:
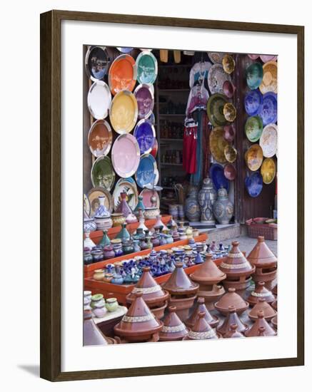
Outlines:
<svg viewBox="0 0 312 392"><path fill-rule="evenodd" d="M176 306L169 306L168 311L169 313L163 320L163 327L159 333L159 340L180 340L188 334L188 329L176 314Z"/></svg>

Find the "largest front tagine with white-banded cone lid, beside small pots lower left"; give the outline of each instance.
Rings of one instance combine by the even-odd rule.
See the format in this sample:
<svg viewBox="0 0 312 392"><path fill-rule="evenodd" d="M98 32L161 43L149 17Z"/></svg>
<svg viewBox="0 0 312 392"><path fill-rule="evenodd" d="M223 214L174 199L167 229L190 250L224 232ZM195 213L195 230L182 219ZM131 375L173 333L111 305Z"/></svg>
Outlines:
<svg viewBox="0 0 312 392"><path fill-rule="evenodd" d="M158 341L163 323L142 298L143 293L135 293L136 298L121 321L114 326L115 334L126 342Z"/></svg>

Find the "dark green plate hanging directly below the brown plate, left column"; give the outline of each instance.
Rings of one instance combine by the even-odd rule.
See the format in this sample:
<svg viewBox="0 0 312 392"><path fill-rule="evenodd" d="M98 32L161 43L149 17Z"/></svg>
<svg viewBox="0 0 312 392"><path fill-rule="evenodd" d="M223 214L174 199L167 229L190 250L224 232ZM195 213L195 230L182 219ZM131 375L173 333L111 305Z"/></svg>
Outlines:
<svg viewBox="0 0 312 392"><path fill-rule="evenodd" d="M91 169L91 182L94 187L104 187L111 190L115 181L115 172L111 165L111 158L100 157L94 161Z"/></svg>

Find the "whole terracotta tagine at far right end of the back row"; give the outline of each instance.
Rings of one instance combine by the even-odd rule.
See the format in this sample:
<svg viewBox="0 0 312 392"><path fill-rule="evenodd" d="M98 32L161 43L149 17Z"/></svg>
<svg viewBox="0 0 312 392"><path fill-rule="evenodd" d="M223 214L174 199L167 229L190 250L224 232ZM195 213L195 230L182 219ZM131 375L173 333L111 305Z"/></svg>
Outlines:
<svg viewBox="0 0 312 392"><path fill-rule="evenodd" d="M264 237L259 236L258 242L247 257L248 262L256 267L253 274L254 282L264 282L266 287L271 290L276 284L277 258L269 249Z"/></svg>

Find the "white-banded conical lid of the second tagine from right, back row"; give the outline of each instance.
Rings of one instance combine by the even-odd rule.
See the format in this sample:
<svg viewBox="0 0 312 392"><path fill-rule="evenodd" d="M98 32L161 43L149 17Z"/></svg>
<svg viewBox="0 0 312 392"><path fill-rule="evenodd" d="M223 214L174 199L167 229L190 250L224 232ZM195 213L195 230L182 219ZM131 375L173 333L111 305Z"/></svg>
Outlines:
<svg viewBox="0 0 312 392"><path fill-rule="evenodd" d="M239 242L233 241L230 252L226 257L225 262L221 262L219 268L227 277L243 277L253 274L256 267L252 266L250 262L243 255L238 248Z"/></svg>

